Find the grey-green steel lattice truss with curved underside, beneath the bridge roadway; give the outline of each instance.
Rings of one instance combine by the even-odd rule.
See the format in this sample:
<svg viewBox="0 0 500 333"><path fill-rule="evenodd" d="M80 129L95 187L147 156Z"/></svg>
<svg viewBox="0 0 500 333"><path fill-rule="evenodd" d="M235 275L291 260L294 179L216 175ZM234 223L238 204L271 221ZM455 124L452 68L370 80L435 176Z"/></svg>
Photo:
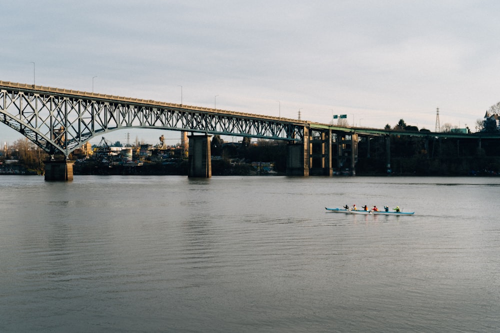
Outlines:
<svg viewBox="0 0 500 333"><path fill-rule="evenodd" d="M306 122L0 81L0 121L47 153L68 156L124 128L302 142Z"/></svg>

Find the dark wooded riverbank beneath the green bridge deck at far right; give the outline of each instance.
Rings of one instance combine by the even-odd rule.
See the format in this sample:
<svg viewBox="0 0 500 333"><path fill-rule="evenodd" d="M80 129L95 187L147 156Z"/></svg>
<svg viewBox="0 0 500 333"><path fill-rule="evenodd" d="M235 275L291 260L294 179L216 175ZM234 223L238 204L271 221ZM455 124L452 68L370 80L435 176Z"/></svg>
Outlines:
<svg viewBox="0 0 500 333"><path fill-rule="evenodd" d="M477 139L391 136L388 170L385 138L361 138L356 174L383 175L387 172L415 176L497 175L500 146L497 140L483 139L479 147Z"/></svg>

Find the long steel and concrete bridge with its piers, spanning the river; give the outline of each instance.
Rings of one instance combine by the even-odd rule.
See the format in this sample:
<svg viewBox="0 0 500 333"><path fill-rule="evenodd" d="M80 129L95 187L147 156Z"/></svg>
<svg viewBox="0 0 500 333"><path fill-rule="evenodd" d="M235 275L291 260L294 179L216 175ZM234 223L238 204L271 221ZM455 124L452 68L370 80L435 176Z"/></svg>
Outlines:
<svg viewBox="0 0 500 333"><path fill-rule="evenodd" d="M91 138L125 128L154 128L191 132L189 176L210 177L209 136L285 140L287 174L331 175L335 156L354 169L358 135L414 135L470 139L470 134L394 132L372 128L334 126L297 119L233 112L89 93L69 89L0 81L0 121L46 151L45 179L72 179L69 155ZM197 133L198 135L195 135ZM500 138L498 135L475 135ZM56 159L62 156L62 159ZM62 160L62 161L61 161ZM337 158L337 164L338 162Z"/></svg>

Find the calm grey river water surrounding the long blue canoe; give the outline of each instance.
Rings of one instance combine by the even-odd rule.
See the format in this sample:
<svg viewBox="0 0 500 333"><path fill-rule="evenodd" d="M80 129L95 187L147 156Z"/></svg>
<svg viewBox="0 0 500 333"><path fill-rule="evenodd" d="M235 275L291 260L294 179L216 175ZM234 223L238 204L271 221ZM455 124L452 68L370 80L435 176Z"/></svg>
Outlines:
<svg viewBox="0 0 500 333"><path fill-rule="evenodd" d="M500 178L0 177L0 332L499 332ZM413 216L329 213L398 205Z"/></svg>

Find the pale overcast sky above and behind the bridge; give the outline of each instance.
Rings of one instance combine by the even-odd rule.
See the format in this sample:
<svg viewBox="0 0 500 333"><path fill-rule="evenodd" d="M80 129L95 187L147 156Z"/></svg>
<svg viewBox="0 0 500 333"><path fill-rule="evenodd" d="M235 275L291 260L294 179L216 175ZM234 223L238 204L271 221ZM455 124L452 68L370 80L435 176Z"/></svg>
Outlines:
<svg viewBox="0 0 500 333"><path fill-rule="evenodd" d="M500 101L498 1L4 2L3 81L294 119L300 110L321 123L403 119L432 131L436 108L440 125L475 131ZM159 130L104 137L127 133L180 141ZM1 142L17 138L0 123Z"/></svg>

